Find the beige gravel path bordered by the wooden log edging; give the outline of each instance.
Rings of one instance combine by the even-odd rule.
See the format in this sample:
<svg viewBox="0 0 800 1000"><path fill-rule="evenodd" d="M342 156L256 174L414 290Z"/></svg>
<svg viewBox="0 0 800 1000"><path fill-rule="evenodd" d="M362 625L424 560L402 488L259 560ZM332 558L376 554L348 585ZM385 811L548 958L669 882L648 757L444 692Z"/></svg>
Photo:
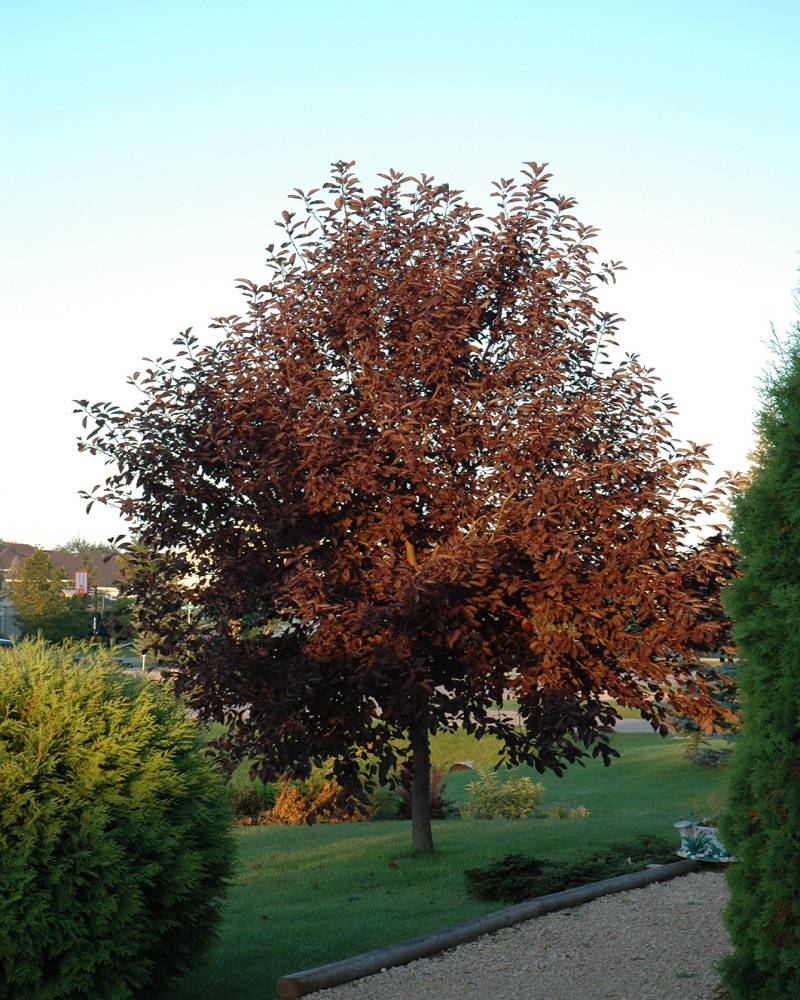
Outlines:
<svg viewBox="0 0 800 1000"><path fill-rule="evenodd" d="M729 950L724 875L603 896L309 997L330 1000L712 1000Z"/></svg>

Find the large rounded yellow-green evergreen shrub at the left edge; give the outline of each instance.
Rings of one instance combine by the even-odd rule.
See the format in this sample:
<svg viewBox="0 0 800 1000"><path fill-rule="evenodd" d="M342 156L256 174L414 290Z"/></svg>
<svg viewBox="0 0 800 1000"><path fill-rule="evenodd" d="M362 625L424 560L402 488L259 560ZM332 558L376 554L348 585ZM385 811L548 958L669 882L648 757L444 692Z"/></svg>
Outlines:
<svg viewBox="0 0 800 1000"><path fill-rule="evenodd" d="M224 785L166 684L99 650L0 657L0 997L156 997L214 940Z"/></svg>

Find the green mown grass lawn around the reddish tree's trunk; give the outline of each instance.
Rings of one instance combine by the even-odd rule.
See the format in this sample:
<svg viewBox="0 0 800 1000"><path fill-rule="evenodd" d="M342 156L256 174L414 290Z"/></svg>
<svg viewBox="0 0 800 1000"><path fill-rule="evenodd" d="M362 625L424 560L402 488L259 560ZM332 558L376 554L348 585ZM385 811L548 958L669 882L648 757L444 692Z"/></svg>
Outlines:
<svg viewBox="0 0 800 1000"><path fill-rule="evenodd" d="M575 801L588 819L449 820L434 824L436 853L410 855L408 822L237 829L240 861L219 946L185 979L174 1000L275 997L275 980L456 924L497 907L470 899L463 872L505 854L574 857L638 833L675 836L679 816L700 818L722 799L723 773L692 765L683 742L655 734L614 737L622 757L592 762L562 778L528 773L545 805ZM442 734L434 764L490 766L491 740ZM448 797L465 799L471 772L451 775Z"/></svg>

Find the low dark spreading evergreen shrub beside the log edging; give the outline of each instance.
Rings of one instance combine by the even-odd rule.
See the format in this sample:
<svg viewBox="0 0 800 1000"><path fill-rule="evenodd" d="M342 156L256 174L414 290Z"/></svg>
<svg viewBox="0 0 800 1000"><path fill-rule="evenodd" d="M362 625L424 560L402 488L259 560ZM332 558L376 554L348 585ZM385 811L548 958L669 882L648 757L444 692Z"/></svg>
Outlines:
<svg viewBox="0 0 800 1000"><path fill-rule="evenodd" d="M542 861L522 854L509 854L485 868L464 872L467 892L492 903L521 903L526 899L589 885L603 879L639 871L648 864L675 860L671 840L641 836L608 844L572 861Z"/></svg>

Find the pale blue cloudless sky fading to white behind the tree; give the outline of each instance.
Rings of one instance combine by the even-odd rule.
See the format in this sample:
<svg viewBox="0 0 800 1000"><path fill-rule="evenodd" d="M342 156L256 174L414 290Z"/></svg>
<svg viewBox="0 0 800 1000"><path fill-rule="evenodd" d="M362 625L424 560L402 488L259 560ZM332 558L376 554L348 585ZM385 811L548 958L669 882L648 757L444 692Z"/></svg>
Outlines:
<svg viewBox="0 0 800 1000"><path fill-rule="evenodd" d="M743 468L795 321L800 4L0 0L0 536L100 540L71 400L238 311L294 187L354 159L490 206L547 161L676 431Z"/></svg>

